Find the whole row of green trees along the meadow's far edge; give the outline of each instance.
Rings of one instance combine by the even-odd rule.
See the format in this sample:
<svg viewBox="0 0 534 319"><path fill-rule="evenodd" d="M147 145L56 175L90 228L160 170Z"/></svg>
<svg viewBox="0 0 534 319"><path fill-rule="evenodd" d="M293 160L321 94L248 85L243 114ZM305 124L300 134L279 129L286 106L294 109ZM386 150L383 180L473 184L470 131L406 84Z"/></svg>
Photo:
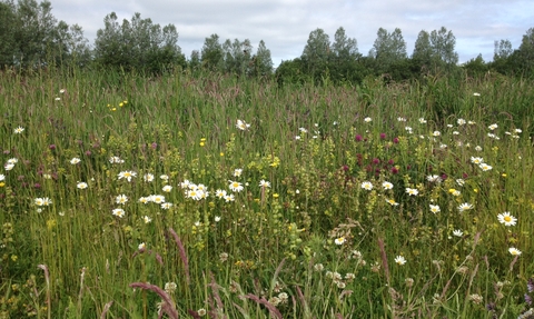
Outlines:
<svg viewBox="0 0 534 319"><path fill-rule="evenodd" d="M275 77L281 83L358 83L367 76L384 76L398 81L435 72L482 76L488 71L534 77L534 28L523 36L517 49L510 40L495 41L493 61L482 54L458 64L456 38L442 27L422 30L412 54L406 51L402 30L378 29L367 54L358 51L357 41L340 27L334 40L323 29L309 33L300 57L283 61L276 69L270 50L261 40L258 48L249 39L221 41L214 33L190 57L178 46L174 24L160 27L135 13L119 21L111 12L103 19L91 46L80 26L58 21L49 1L0 1L0 66L2 68L81 67L116 68L146 73L161 73L180 68L191 72L208 70L238 77Z"/></svg>

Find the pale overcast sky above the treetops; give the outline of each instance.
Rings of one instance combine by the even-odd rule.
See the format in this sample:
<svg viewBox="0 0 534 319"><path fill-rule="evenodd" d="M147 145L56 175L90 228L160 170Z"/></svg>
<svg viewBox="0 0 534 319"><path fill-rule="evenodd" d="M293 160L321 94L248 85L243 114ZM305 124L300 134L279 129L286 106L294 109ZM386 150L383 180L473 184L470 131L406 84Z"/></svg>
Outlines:
<svg viewBox="0 0 534 319"><path fill-rule="evenodd" d="M161 27L175 24L178 44L187 58L217 33L226 39L264 40L275 67L299 57L309 33L320 28L334 40L339 27L367 54L378 28L400 28L411 56L421 30L447 28L456 37L459 62L482 53L493 59L494 41L508 39L514 49L534 28L533 0L50 0L52 14L83 28L92 44L103 18L116 12L120 21L135 12Z"/></svg>

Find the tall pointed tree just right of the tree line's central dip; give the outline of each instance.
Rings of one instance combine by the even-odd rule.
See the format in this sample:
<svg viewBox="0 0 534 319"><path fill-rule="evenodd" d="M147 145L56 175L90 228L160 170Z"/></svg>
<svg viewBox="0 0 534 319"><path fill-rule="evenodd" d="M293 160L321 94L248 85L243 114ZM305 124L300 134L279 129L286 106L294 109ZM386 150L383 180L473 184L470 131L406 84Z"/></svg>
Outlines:
<svg viewBox="0 0 534 319"><path fill-rule="evenodd" d="M308 73L318 79L327 70L329 53L330 40L328 34L323 29L316 29L309 33L300 58L307 67Z"/></svg>

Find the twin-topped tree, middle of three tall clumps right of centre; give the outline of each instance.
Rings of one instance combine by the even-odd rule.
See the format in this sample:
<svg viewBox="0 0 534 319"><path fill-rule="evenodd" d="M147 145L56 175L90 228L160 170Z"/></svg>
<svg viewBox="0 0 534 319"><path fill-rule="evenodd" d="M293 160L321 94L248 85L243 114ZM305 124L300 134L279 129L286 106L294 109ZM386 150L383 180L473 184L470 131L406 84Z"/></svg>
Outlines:
<svg viewBox="0 0 534 319"><path fill-rule="evenodd" d="M406 59L406 42L400 29L396 28L395 31L389 33L387 30L379 28L369 57L375 58L378 72L385 72L393 63Z"/></svg>

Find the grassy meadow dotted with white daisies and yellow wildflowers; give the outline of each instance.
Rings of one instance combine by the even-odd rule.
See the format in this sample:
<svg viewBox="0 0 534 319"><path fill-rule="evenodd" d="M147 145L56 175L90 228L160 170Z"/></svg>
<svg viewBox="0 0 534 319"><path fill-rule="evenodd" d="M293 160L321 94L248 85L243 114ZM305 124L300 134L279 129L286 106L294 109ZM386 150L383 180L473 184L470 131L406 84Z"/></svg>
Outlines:
<svg viewBox="0 0 534 319"><path fill-rule="evenodd" d="M0 318L534 318L530 81L0 92Z"/></svg>

